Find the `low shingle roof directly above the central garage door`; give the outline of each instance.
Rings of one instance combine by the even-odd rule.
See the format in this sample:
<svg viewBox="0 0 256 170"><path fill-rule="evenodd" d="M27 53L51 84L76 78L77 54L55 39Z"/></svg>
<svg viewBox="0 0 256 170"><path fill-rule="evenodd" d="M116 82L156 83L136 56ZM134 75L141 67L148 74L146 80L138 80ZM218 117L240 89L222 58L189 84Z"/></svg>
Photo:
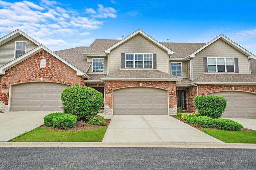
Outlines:
<svg viewBox="0 0 256 170"><path fill-rule="evenodd" d="M172 80L181 80L172 76L170 74L164 73L159 70L118 70L112 74L102 77L102 79L112 79L112 78L134 78L138 79L172 79Z"/></svg>

